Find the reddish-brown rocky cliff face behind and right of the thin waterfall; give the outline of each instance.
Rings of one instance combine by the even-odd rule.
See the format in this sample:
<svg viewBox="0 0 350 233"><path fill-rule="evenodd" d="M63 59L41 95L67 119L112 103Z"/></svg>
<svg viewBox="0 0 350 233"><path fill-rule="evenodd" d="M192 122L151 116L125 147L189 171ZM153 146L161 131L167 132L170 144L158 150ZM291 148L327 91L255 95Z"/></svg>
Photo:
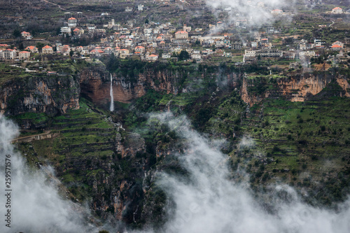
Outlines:
<svg viewBox="0 0 350 233"><path fill-rule="evenodd" d="M204 76L216 80L218 86L234 87L239 85L241 76L237 73L223 74L205 73L205 71L190 73L185 70L172 71L162 69L156 71L146 68L136 77L118 76L113 73L113 100L130 103L132 99L144 96L147 90L156 92L178 94L179 92L192 92L204 80ZM188 82L188 79L193 82ZM186 85L184 81L186 80ZM97 104L107 104L110 97L110 73L104 66L89 67L80 73L81 93Z"/></svg>

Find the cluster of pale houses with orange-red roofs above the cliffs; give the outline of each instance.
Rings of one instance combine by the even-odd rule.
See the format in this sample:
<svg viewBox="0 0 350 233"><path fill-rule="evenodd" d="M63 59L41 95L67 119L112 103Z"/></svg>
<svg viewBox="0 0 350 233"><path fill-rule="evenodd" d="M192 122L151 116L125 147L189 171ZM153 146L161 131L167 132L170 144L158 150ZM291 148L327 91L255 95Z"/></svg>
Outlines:
<svg viewBox="0 0 350 233"><path fill-rule="evenodd" d="M137 10L145 9L142 4L137 6ZM128 10L132 11L132 8L125 9L125 11ZM271 13L281 15L283 10L275 9ZM339 14L343 11L342 8L337 7L332 9L332 13ZM71 13L65 13L66 22L60 30L62 36L98 35L101 38L98 44L74 47L56 42L53 45L45 45L41 48L41 51L38 51L35 46L28 46L25 50L18 51L15 48L10 49L9 45L0 45L0 59L29 59L31 54L41 52L42 54L62 54L66 56L75 53L83 57L100 57L113 54L121 59L137 57L137 59L153 62L158 59L176 59L174 57L185 50L190 55L190 60L196 62L202 62L204 57L214 54L216 56L232 57L234 52L236 55L243 55L243 62L251 62L263 57L283 57L285 59L300 57L300 59L306 59L315 57L317 49L325 48L324 41L314 39L313 43L300 40L297 43L297 48L290 48L288 51L279 50L269 42L269 38L261 37L267 36L269 33L279 32L274 27L267 27L267 34L255 35L254 41L244 41L232 34L215 34L216 30L225 27L223 22L209 24L209 32L214 32L213 35L215 36L212 36L212 34L204 36L206 29L193 29L186 24L179 28L173 26L170 22L162 24L150 22L145 23L142 27L135 27L136 20L128 20L124 24L118 24L111 19L102 26L103 28L97 28L95 24L79 24L81 14L77 13L76 17L72 17ZM106 15L109 14L102 13L102 16ZM234 27L243 29L246 28L246 25L247 20L244 18L237 19L233 24ZM25 39L32 38L27 31L22 31L21 35ZM345 43L335 41L329 49L346 50L345 44L349 44L348 40L349 38L346 38Z"/></svg>

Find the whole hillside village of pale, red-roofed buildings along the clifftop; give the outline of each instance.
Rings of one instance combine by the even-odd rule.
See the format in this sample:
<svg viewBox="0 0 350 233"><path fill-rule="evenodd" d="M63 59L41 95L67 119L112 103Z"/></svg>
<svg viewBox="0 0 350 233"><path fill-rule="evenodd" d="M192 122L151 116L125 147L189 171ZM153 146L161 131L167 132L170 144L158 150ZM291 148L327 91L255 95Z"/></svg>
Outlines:
<svg viewBox="0 0 350 233"><path fill-rule="evenodd" d="M167 4L167 3L165 3ZM259 5L261 7L261 3ZM263 6L263 5L262 5ZM148 10L142 4L135 8L126 7L125 12ZM225 8L225 11L232 10ZM347 17L349 14L340 7L332 8L330 15ZM274 20L283 20L289 13L274 9L270 12ZM114 55L120 59L141 59L155 62L179 60L184 62L233 62L236 65L268 59L276 64L284 64L289 69L299 65L309 66L311 60L325 51L332 52L328 62L342 62L349 58L350 37L323 41L322 38L303 38L302 35L286 36L279 27L264 26L247 36L227 32L228 29L244 30L249 27L247 18L234 22L211 22L206 27L191 27L171 22L145 22L127 20L116 22L109 13L101 13L105 24L81 23L82 12L64 13L64 24L59 29L61 40L41 43L27 31L21 31L22 41L29 46L16 48L14 45L0 44L0 58L6 61L35 61L43 55L60 55L70 58L91 59ZM331 24L318 24L319 29L328 29ZM94 38L88 45L74 45L73 41ZM64 43L66 42L66 43ZM23 43L22 43L23 44ZM40 55L40 56L38 56ZM290 62L288 62L290 61Z"/></svg>

